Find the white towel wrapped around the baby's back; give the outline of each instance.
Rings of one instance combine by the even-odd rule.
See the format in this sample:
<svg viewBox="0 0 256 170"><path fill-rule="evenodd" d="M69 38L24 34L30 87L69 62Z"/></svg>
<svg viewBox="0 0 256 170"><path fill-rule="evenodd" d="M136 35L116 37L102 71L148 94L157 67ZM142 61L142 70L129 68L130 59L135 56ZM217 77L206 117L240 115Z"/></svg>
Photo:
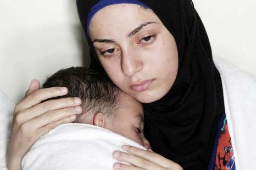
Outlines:
<svg viewBox="0 0 256 170"><path fill-rule="evenodd" d="M88 124L64 124L42 136L24 156L21 167L32 169L112 170L112 154L127 144L140 144L112 131Z"/></svg>

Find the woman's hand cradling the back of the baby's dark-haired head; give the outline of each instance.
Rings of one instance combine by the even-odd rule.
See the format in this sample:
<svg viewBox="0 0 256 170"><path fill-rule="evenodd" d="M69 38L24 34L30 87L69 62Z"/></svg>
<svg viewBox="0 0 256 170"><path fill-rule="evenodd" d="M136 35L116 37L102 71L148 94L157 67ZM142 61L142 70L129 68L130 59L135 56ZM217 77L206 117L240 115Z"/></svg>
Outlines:
<svg viewBox="0 0 256 170"><path fill-rule="evenodd" d="M14 109L7 153L9 170L21 169L23 156L43 134L58 125L73 122L76 115L82 112L81 99L77 97L42 102L48 98L64 96L66 93L66 87L40 89L37 80L31 82L25 98Z"/></svg>

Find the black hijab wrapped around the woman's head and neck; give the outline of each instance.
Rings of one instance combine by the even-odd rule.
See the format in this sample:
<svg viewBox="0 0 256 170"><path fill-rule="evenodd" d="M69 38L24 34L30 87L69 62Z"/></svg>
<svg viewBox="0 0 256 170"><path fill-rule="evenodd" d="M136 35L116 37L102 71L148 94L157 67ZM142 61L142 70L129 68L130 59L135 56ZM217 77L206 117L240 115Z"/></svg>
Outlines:
<svg viewBox="0 0 256 170"><path fill-rule="evenodd" d="M207 169L216 129L225 113L221 78L203 23L190 0L140 0L148 5L174 36L179 71L170 91L143 104L144 134L152 149L183 169ZM97 0L77 0L87 32L88 13ZM91 67L103 70L87 36Z"/></svg>

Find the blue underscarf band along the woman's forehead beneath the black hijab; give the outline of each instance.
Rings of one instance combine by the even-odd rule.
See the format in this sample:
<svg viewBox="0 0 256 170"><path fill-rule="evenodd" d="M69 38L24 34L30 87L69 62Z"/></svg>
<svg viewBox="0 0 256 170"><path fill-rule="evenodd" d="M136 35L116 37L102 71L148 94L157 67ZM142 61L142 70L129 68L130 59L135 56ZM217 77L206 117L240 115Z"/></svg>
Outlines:
<svg viewBox="0 0 256 170"><path fill-rule="evenodd" d="M109 5L114 5L114 4L120 4L120 3L131 3L131 4L137 4L137 5L141 5L142 7L145 8L149 8L147 5L143 4L140 1L137 0L100 0L98 3L96 3L90 13L88 14L88 18L87 18L87 35L89 36L89 26L91 24L92 21L92 17L101 9L109 6Z"/></svg>

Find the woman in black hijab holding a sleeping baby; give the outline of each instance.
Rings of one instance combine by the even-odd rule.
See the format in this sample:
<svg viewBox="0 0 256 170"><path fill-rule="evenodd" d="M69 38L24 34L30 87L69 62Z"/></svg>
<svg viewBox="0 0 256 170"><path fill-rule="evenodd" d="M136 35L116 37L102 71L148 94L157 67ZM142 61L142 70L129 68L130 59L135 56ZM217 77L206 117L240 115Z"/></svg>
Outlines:
<svg viewBox="0 0 256 170"><path fill-rule="evenodd" d="M155 153L125 146L129 154L115 152L113 157L131 165L116 163L114 169L238 167L233 131L223 133L229 132L225 121L229 110L220 73L191 1L77 0L77 8L90 45L91 67L104 69L121 90L144 103L144 133ZM32 81L16 105L9 169L19 166L42 134L72 122L74 108L81 104L79 98L40 103L67 90L38 89L38 82ZM232 122L229 116L227 122ZM251 130L255 132L255 127ZM226 144L222 155L221 146Z"/></svg>

